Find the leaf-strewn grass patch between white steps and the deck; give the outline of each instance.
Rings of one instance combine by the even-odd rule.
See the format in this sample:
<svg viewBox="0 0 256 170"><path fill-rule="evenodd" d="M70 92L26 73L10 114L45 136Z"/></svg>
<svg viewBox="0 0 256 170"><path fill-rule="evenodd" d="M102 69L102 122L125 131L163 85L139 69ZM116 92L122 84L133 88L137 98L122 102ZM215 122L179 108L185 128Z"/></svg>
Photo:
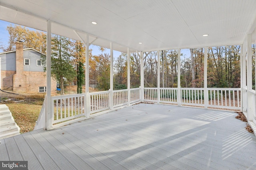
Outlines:
<svg viewBox="0 0 256 170"><path fill-rule="evenodd" d="M26 103L8 103L12 116L20 127L20 133L33 131L42 105Z"/></svg>

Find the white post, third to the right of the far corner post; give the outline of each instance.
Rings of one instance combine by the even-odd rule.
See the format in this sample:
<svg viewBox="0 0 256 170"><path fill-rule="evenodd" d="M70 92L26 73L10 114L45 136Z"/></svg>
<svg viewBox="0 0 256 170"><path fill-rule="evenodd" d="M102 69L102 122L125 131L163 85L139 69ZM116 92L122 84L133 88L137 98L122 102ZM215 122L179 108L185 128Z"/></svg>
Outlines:
<svg viewBox="0 0 256 170"><path fill-rule="evenodd" d="M207 47L204 47L204 108L208 107L208 89L207 89Z"/></svg>

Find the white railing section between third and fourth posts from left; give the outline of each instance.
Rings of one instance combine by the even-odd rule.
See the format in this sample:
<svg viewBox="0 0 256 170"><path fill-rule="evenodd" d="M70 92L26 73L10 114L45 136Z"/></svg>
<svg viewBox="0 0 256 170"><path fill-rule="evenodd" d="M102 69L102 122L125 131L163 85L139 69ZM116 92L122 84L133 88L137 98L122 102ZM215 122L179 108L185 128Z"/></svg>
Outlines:
<svg viewBox="0 0 256 170"><path fill-rule="evenodd" d="M113 107L119 107L128 104L127 92L127 89L113 91Z"/></svg>

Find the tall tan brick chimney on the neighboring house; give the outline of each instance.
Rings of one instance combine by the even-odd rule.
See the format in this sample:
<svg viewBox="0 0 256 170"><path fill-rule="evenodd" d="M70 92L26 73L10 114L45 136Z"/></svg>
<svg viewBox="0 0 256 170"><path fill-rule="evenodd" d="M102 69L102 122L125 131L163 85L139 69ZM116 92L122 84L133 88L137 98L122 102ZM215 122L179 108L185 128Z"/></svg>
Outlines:
<svg viewBox="0 0 256 170"><path fill-rule="evenodd" d="M16 74L13 75L13 91L27 92L27 77L23 73L24 58L23 58L23 43L16 41Z"/></svg>

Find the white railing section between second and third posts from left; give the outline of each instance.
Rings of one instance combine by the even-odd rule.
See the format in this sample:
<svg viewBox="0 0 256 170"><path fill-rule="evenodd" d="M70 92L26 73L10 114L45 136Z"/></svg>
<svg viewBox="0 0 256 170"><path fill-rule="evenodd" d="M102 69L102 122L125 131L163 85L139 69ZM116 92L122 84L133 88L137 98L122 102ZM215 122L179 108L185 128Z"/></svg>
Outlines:
<svg viewBox="0 0 256 170"><path fill-rule="evenodd" d="M110 91L109 90L103 91L103 92L92 92L89 94L90 94L90 100L91 100L90 114L110 109L110 106L109 106Z"/></svg>

